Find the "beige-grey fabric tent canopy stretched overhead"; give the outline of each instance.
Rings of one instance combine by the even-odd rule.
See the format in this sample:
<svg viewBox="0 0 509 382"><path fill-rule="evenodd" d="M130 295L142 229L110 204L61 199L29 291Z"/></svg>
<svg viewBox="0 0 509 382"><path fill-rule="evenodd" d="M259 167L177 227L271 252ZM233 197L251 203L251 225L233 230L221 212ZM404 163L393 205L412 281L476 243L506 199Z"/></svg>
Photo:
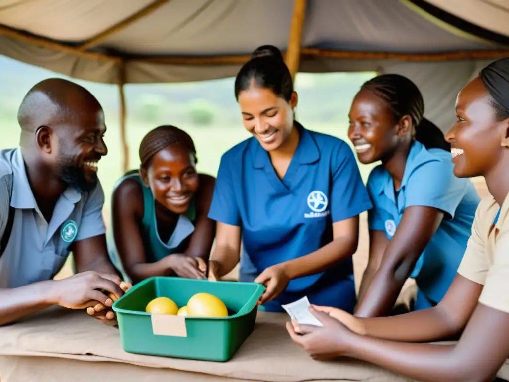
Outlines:
<svg viewBox="0 0 509 382"><path fill-rule="evenodd" d="M300 71L377 70L508 56L508 19L509 0L3 0L0 54L101 83L205 80L294 29Z"/></svg>

